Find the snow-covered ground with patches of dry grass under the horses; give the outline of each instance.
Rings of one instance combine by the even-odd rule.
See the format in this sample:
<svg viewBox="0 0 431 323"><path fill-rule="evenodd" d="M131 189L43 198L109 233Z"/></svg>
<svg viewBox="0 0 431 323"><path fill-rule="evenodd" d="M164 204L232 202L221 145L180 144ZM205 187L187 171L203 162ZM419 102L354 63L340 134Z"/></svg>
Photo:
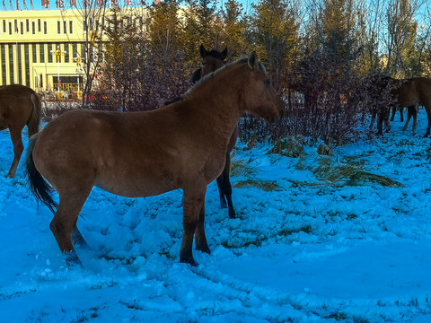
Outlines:
<svg viewBox="0 0 431 323"><path fill-rule="evenodd" d="M195 268L179 262L180 191L128 199L94 188L78 221L91 247L77 250L84 270L66 268L23 162L4 178L13 154L2 132L0 322L431 322L426 114L416 135L401 127L332 157L240 145L233 159L255 173L233 185L267 190L234 188L231 220L210 185L212 254L195 251Z"/></svg>

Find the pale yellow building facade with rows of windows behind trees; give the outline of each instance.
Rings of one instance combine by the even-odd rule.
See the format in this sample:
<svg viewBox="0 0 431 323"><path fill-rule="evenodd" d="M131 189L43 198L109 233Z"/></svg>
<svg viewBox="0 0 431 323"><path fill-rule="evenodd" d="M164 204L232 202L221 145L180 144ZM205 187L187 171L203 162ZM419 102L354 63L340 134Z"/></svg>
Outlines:
<svg viewBox="0 0 431 323"><path fill-rule="evenodd" d="M0 84L76 91L82 70L74 58L83 56L84 37L83 19L74 10L1 12Z"/></svg>

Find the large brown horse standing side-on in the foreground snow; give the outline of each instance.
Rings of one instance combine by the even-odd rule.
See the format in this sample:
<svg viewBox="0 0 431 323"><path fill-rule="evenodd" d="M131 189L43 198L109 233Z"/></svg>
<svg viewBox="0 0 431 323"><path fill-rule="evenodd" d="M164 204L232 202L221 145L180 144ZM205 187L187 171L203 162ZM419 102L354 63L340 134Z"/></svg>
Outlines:
<svg viewBox="0 0 431 323"><path fill-rule="evenodd" d="M229 86L226 86L229 84ZM181 100L147 112L74 110L31 137L26 171L31 191L55 212L50 223L69 265L79 264L72 240L92 187L120 196L156 196L183 190L180 261L197 265L196 248L209 253L204 230L207 185L224 169L227 146L242 113L274 121L281 100L256 53L220 68ZM42 177L43 176L43 177ZM50 195L57 190L59 204ZM57 211L56 211L57 208Z"/></svg>

